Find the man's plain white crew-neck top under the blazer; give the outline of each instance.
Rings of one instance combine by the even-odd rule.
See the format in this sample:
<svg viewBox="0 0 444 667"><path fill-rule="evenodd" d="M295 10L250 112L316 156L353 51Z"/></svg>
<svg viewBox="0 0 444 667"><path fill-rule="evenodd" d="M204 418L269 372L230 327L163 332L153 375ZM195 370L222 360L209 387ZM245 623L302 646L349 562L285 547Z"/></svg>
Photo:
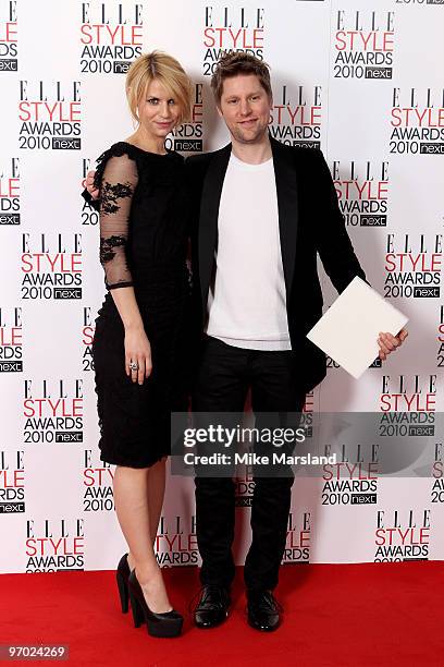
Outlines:
<svg viewBox="0 0 444 667"><path fill-rule="evenodd" d="M219 207L207 333L251 350L291 350L273 159L233 153Z"/></svg>

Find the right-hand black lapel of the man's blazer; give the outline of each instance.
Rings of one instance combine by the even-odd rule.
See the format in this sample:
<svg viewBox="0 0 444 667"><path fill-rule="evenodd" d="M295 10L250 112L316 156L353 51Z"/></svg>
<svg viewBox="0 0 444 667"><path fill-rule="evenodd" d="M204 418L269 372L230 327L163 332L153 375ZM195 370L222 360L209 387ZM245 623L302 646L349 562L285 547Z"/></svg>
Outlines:
<svg viewBox="0 0 444 667"><path fill-rule="evenodd" d="M293 286L296 260L296 237L298 219L296 166L293 151L270 136L276 179L279 231L284 268L287 303Z"/></svg>

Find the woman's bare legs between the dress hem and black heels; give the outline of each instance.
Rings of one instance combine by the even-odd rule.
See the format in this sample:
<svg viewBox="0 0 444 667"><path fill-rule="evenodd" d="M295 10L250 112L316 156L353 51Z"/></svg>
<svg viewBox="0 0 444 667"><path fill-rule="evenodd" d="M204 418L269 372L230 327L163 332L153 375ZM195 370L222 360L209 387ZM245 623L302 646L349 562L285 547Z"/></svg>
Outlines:
<svg viewBox="0 0 444 667"><path fill-rule="evenodd" d="M144 591L145 598L151 611L162 614L172 608L163 583L162 573L152 549L151 527L156 516L159 518L162 498L156 497L152 510L149 509L149 498L155 489L163 497L163 485L153 475L152 493L149 492L150 472L152 469L135 469L118 465L114 473L115 512L122 532L130 547L130 568L135 568L137 580ZM159 475L161 478L161 475ZM151 519L152 516L152 519Z"/></svg>

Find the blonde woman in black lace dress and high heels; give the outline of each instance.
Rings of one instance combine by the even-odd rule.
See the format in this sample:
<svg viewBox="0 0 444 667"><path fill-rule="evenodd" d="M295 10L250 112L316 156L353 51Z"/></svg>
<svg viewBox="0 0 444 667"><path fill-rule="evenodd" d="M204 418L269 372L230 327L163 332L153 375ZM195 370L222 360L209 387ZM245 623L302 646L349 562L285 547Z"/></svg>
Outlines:
<svg viewBox="0 0 444 667"><path fill-rule="evenodd" d="M155 636L181 633L153 542L165 485L171 410L186 410L184 320L188 299L184 160L164 140L188 120L192 86L159 51L126 77L137 130L99 158L100 260L109 290L96 324L94 361L101 459L116 465L114 502L128 544L118 568L122 610ZM131 572L131 573L130 573Z"/></svg>

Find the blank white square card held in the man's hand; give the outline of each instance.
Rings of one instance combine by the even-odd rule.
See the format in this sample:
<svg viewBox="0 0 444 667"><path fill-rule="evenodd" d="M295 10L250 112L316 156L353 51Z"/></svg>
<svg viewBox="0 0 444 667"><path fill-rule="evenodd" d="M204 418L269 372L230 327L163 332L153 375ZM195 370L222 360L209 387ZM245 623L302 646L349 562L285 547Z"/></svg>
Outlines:
<svg viewBox="0 0 444 667"><path fill-rule="evenodd" d="M358 379L379 354L379 332L396 336L407 322L356 276L307 338Z"/></svg>

